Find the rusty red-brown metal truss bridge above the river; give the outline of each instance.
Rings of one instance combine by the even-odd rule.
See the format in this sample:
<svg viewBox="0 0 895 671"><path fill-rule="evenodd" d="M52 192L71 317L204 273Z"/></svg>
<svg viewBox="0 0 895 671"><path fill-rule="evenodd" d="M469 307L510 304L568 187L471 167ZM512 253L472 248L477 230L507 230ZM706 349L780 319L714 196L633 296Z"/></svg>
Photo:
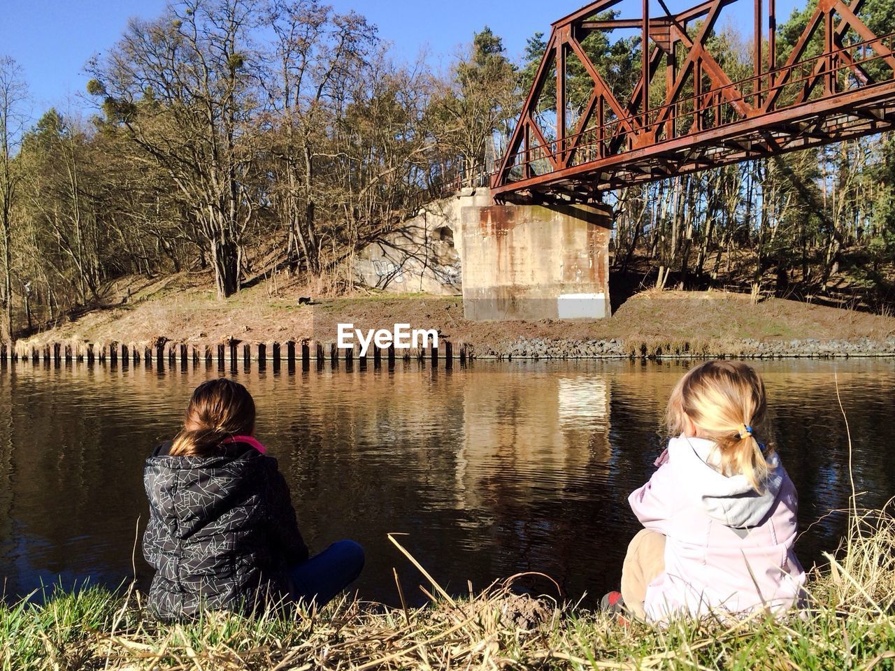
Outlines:
<svg viewBox="0 0 895 671"><path fill-rule="evenodd" d="M608 12L621 0L600 0L555 22L491 174L494 197L599 200L602 191L895 128L895 33L867 27L864 0L819 0L785 49L774 0L753 0L745 66L725 56L715 30L739 1L671 13L658 0L663 12L651 15L641 0L640 16L621 18ZM640 38L642 58L631 64L639 79L632 73L624 93L588 54L593 33L609 31L611 43L614 30Z"/></svg>

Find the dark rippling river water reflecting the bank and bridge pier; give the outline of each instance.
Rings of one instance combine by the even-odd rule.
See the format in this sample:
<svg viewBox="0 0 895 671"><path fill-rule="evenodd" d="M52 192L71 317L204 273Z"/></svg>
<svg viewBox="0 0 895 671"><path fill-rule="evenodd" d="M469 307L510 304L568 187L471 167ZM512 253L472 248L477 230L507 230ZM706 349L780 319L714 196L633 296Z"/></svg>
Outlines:
<svg viewBox="0 0 895 671"><path fill-rule="evenodd" d="M364 372L255 366L234 377L256 398L260 437L280 460L311 546L359 539L370 557L362 595L394 604L393 566L416 603L422 577L389 532L407 534L405 546L456 592L467 580L482 587L524 571L550 574L571 598L615 585L636 528L626 497L652 472L665 402L688 365L476 362L447 371L398 361ZM850 494L837 378L861 502L882 505L895 493L895 362L759 368L800 492L808 531L798 551L810 564L837 545L844 517L827 513ZM0 373L8 597L41 582L116 585L134 573L143 459L174 434L192 388L219 374L216 364ZM133 566L145 585L139 548Z"/></svg>

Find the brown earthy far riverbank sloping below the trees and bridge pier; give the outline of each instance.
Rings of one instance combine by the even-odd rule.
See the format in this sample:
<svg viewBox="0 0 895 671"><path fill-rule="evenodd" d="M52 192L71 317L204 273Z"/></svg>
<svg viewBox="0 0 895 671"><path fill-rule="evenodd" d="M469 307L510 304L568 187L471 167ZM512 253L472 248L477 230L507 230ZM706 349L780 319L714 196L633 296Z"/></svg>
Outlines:
<svg viewBox="0 0 895 671"><path fill-rule="evenodd" d="M123 285L124 287L125 285ZM22 351L48 344L285 344L313 341L328 355L337 324L433 328L474 358L600 358L675 356L892 356L895 318L721 292L647 291L609 319L592 322L477 323L463 317L459 297L364 293L300 304L300 290L255 285L226 302L189 276L129 284L105 305L20 341ZM311 357L316 355L311 348ZM243 352L238 352L243 357ZM271 348L268 348L268 357Z"/></svg>

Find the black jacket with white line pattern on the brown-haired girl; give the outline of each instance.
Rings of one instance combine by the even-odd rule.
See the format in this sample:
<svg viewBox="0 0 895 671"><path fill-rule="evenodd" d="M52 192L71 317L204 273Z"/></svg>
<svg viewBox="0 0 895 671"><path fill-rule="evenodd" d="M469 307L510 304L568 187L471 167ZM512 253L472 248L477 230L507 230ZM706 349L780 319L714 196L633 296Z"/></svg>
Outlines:
<svg viewBox="0 0 895 671"><path fill-rule="evenodd" d="M149 606L173 620L286 596L287 568L308 548L277 460L243 443L210 457L169 456L170 446L158 446L143 473L143 555L156 569Z"/></svg>

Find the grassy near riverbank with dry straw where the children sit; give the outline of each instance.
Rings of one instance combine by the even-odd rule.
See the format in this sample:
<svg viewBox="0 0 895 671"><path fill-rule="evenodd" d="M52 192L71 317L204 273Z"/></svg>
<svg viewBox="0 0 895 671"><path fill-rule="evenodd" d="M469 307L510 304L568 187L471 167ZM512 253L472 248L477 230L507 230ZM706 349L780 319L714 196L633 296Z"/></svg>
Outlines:
<svg viewBox="0 0 895 671"><path fill-rule="evenodd" d="M852 517L838 560L815 570L803 616L683 619L667 629L513 593L439 595L419 609L345 600L315 615L210 614L158 624L141 595L91 588L0 606L2 667L88 669L892 668L895 520ZM417 566L417 568L419 568ZM421 588L422 589L422 588Z"/></svg>

